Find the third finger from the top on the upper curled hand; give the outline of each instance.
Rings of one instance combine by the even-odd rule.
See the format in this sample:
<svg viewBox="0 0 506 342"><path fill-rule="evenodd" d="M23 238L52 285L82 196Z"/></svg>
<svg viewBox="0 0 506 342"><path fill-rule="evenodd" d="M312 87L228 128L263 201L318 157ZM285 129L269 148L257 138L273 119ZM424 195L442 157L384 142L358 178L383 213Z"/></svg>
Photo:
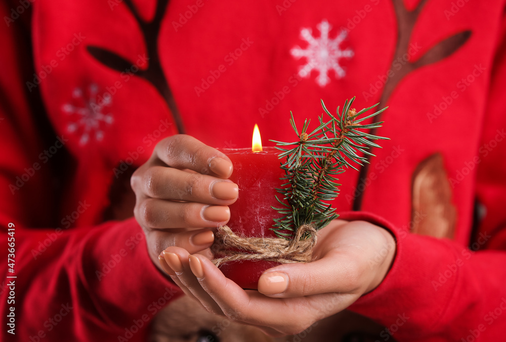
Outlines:
<svg viewBox="0 0 506 342"><path fill-rule="evenodd" d="M134 214L137 222L147 228L218 227L230 219L226 206L157 199L145 199L136 206Z"/></svg>

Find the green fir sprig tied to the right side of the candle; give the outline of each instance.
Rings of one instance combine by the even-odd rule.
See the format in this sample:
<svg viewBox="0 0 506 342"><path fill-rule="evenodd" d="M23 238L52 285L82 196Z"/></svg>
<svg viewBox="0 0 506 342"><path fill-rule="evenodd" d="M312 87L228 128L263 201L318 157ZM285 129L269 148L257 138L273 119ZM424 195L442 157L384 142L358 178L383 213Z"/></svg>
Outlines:
<svg viewBox="0 0 506 342"><path fill-rule="evenodd" d="M336 176L347 168L357 170L354 164L368 163L367 156L373 156L368 150L381 147L371 140L388 139L364 131L377 129L383 122L361 124L387 108L363 116L378 104L357 113L351 108L354 100L355 97L347 100L341 113L338 107L336 116L330 114L322 100L321 106L328 118L325 119L322 114L318 117L318 127L309 132L311 120L306 119L302 131L299 131L290 112L290 125L299 140L271 140L281 151L279 158L286 158L281 165L285 171L285 176L281 178L284 184L276 189L281 194L281 198L276 196L281 207L273 207L281 215L274 219L271 228L278 237L290 239L296 235L298 227L306 224L318 230L337 218L338 214L330 205L338 196L341 185Z"/></svg>

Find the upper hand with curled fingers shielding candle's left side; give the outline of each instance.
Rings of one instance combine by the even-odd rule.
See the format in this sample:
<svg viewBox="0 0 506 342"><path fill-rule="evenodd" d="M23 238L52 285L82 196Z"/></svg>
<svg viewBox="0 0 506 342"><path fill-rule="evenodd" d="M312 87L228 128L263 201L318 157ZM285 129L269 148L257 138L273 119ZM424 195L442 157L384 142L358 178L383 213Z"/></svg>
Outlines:
<svg viewBox="0 0 506 342"><path fill-rule="evenodd" d="M135 171L134 215L146 234L149 255L160 267L160 252L169 246L196 253L209 248L209 229L230 219L228 205L238 187L228 180L230 159L188 135L158 142L151 158ZM199 229L200 228L200 229Z"/></svg>

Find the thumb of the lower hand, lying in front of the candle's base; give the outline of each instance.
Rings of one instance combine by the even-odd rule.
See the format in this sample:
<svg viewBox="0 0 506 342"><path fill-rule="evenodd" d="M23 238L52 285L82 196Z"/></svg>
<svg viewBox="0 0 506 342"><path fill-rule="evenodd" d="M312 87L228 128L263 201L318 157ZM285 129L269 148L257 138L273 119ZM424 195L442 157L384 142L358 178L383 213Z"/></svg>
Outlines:
<svg viewBox="0 0 506 342"><path fill-rule="evenodd" d="M357 292L363 269L357 258L331 251L307 264L284 264L265 271L258 290L273 298L289 298L329 292Z"/></svg>

